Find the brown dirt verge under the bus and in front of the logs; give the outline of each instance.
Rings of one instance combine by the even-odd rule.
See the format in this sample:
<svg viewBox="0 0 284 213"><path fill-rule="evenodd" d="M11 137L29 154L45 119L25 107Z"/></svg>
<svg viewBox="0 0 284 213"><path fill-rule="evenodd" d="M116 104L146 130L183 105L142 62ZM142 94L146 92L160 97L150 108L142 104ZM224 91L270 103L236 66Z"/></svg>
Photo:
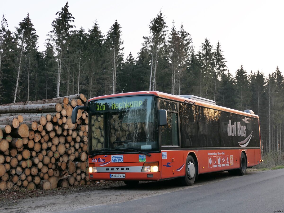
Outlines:
<svg viewBox="0 0 284 213"><path fill-rule="evenodd" d="M264 171L248 169L247 175L258 172ZM136 187L127 186L122 181L105 181L54 190L7 191L0 194L0 212L68 212L86 206L141 199L239 177L229 176L228 172L199 175L199 179L190 187L179 186L175 180L141 182Z"/></svg>

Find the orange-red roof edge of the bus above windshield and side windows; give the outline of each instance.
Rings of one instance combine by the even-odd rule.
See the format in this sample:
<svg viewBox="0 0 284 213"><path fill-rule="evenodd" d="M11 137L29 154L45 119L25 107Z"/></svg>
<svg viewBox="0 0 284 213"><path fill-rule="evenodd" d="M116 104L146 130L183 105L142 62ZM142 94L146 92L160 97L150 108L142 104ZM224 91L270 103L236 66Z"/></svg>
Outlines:
<svg viewBox="0 0 284 213"><path fill-rule="evenodd" d="M171 95L171 94L163 93L163 92L159 92L159 91L139 91L139 92L129 92L129 93L118 93L118 94L113 94L113 95L103 95L103 96L93 97L93 98L89 99L89 101L94 101L94 100L98 100L98 99L106 99L106 98L132 96L132 95L155 95L157 97L164 98L164 99L170 99L170 100L174 100L174 101L190 103L190 104L197 105L197 106L204 106L204 107L207 107L207 108L212 108L212 109L221 110L221 111L225 111L225 112L231 112L231 113L234 113L234 114L241 114L241 115L244 115L244 116L258 118L257 115L250 114L250 113L247 113L247 112L234 110L234 109L223 107L223 106L213 105L213 104L209 104L209 103L205 103L205 102L197 101L197 100L193 100L193 99L188 99L188 98L181 97L181 96L178 96L178 95Z"/></svg>

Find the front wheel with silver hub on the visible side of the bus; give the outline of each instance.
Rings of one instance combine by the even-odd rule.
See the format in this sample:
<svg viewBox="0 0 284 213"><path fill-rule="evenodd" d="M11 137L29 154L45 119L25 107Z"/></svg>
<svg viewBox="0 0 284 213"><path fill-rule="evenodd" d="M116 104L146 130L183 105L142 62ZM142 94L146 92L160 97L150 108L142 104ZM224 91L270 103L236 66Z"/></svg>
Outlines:
<svg viewBox="0 0 284 213"><path fill-rule="evenodd" d="M185 177L181 178L181 184L184 186L193 185L196 177L196 164L194 158L189 155L185 163Z"/></svg>

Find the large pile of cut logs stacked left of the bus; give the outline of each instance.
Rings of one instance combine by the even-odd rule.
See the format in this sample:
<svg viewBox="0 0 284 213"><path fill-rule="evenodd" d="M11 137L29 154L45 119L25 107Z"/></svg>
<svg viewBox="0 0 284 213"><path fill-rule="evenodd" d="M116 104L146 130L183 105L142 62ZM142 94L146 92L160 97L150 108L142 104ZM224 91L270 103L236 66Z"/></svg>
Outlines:
<svg viewBox="0 0 284 213"><path fill-rule="evenodd" d="M83 94L0 105L0 190L90 184Z"/></svg>

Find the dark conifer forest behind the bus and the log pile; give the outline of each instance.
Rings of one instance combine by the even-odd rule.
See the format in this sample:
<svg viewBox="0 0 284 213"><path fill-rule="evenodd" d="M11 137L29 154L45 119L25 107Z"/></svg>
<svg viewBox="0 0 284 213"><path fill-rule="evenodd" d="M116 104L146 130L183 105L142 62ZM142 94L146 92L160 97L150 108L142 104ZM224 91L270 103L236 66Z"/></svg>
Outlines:
<svg viewBox="0 0 284 213"><path fill-rule="evenodd" d="M278 67L271 67L268 76L259 70L247 72L241 61L237 70L229 70L222 43L206 38L194 47L193 32L166 23L162 11L149 20L138 57L131 52L126 57L118 20L107 32L101 32L96 20L87 30L75 30L71 12L68 2L56 12L43 52L37 48L39 36L29 14L14 31L3 14L0 104L78 93L88 98L151 90L197 95L217 105L253 110L260 118L263 153L283 154L284 79Z"/></svg>

